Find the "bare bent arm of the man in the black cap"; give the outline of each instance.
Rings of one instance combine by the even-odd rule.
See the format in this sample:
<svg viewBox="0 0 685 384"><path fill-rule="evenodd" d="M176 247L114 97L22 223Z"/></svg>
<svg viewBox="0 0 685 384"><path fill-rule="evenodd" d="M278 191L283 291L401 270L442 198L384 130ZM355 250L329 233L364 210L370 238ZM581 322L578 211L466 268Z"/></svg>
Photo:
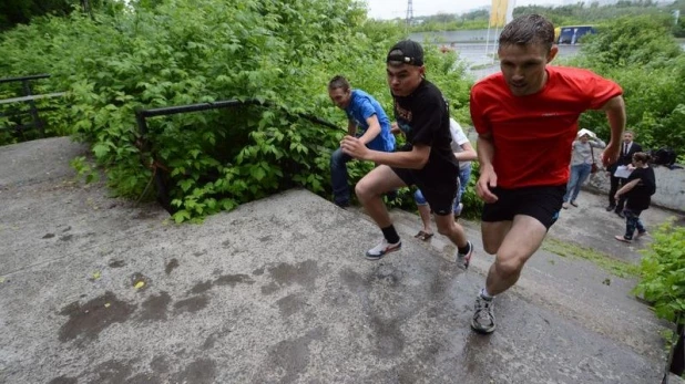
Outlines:
<svg viewBox="0 0 685 384"><path fill-rule="evenodd" d="M343 152L360 160L369 160L377 164L385 164L390 167L421 169L428 163L430 146L417 144L411 152L380 152L372 151L361 143L360 138L345 136L340 142Z"/></svg>

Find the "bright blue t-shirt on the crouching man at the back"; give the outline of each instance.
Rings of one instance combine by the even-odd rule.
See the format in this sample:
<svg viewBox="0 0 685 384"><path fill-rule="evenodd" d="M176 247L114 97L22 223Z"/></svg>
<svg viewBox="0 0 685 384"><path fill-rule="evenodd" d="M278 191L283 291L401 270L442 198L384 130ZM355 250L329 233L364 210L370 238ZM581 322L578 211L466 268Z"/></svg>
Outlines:
<svg viewBox="0 0 685 384"><path fill-rule="evenodd" d="M352 90L352 96L345 113L347 118L357 125L357 137L364 135L369 128L366 120L376 115L380 124L380 134L370 141L367 147L382 152L395 151L395 136L390 133L390 120L376 98L364 91Z"/></svg>

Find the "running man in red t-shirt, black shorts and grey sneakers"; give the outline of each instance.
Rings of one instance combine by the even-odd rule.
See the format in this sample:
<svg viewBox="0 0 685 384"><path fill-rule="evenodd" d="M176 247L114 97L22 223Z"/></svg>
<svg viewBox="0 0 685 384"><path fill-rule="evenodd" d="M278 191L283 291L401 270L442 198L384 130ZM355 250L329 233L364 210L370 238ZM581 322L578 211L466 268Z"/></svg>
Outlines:
<svg viewBox="0 0 685 384"><path fill-rule="evenodd" d="M471 328L477 332L494 331L492 299L519 280L559 217L580 114L606 112L611 141L604 165L614 163L621 148L621 87L590 71L548 66L556 52L551 22L538 14L517 18L500 34L501 73L471 90L471 118L479 134L477 193L485 201L483 248L495 255L476 300Z"/></svg>

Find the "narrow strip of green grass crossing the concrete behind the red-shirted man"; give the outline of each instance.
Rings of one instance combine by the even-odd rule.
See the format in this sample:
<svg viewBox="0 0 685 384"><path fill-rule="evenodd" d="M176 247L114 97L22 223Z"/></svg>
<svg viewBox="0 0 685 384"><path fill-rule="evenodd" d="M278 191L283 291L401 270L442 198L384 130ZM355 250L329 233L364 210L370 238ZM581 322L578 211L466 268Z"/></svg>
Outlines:
<svg viewBox="0 0 685 384"><path fill-rule="evenodd" d="M640 276L640 267L636 264L616 260L611 255L599 252L591 248L581 247L572 242L546 238L542 242L542 249L561 257L575 257L590 260L603 270L620 278Z"/></svg>

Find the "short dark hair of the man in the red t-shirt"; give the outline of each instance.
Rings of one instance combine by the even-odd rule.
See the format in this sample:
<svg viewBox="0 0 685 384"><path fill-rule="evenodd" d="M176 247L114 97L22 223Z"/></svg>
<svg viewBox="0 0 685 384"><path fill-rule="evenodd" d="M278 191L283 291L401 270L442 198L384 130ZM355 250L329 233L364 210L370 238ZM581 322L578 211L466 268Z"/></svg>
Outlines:
<svg viewBox="0 0 685 384"><path fill-rule="evenodd" d="M499 46L541 44L549 51L554 44L554 25L540 14L515 18L502 29Z"/></svg>

